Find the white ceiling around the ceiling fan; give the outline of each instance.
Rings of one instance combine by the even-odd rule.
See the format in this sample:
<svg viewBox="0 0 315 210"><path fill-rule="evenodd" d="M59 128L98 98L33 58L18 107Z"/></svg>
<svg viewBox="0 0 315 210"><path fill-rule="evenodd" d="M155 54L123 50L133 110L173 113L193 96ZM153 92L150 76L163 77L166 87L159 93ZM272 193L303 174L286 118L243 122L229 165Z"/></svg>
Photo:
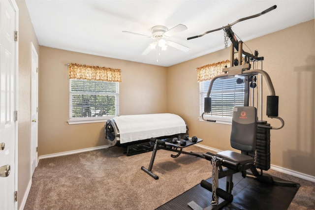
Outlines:
<svg viewBox="0 0 315 210"><path fill-rule="evenodd" d="M273 5L277 5L273 11L237 23L232 30L246 42L315 18L314 0L26 0L26 4L39 45L160 66L223 49L223 30L187 38ZM190 50L182 52L169 46L161 51L158 62L157 51L141 55L153 39L122 32L150 36L154 26L171 29L178 24L188 29L168 39Z"/></svg>

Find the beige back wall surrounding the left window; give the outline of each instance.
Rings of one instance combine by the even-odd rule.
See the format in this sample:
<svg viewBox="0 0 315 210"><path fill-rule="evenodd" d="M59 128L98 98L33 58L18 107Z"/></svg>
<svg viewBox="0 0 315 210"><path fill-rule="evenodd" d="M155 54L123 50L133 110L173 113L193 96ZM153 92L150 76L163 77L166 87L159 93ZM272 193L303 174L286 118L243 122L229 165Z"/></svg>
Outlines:
<svg viewBox="0 0 315 210"><path fill-rule="evenodd" d="M69 79L66 63L122 69L120 115L167 111L166 68L40 47L38 155L107 145L104 123L69 125Z"/></svg>

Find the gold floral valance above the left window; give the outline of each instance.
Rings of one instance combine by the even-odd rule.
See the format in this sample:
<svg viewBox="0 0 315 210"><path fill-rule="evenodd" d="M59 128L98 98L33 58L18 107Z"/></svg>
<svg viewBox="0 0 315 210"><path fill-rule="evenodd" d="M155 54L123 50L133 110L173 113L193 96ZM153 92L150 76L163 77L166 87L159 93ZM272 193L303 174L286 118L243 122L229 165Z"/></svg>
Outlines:
<svg viewBox="0 0 315 210"><path fill-rule="evenodd" d="M121 69L69 63L69 78L121 82Z"/></svg>

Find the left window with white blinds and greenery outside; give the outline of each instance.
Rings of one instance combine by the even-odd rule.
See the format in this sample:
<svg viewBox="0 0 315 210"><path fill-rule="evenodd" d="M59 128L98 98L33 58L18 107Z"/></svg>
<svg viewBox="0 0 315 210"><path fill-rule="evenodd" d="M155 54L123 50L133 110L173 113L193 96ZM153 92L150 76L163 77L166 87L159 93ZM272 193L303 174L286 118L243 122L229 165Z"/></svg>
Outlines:
<svg viewBox="0 0 315 210"><path fill-rule="evenodd" d="M119 115L118 82L70 79L69 84L69 124L105 121Z"/></svg>

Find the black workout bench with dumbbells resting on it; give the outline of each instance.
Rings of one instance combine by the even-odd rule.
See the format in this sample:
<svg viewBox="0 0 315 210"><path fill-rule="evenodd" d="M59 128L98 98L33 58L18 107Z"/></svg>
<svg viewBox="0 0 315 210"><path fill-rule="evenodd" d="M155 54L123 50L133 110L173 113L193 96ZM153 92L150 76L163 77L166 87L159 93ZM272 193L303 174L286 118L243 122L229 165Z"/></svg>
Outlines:
<svg viewBox="0 0 315 210"><path fill-rule="evenodd" d="M184 135L183 139L172 138L172 139L162 139L162 140L151 138L150 141L154 143L154 148L153 148L149 168L146 169L144 166L141 166L141 169L145 171L147 174L149 174L151 177L153 177L155 180L158 180L158 176L152 172L152 167L153 167L154 159L156 157L158 149L178 152L175 155L171 154L171 157L173 158L178 157L181 153L205 158L201 154L183 151L183 148L202 142L202 139L199 139L195 136L193 136L192 138L189 138L188 135Z"/></svg>

